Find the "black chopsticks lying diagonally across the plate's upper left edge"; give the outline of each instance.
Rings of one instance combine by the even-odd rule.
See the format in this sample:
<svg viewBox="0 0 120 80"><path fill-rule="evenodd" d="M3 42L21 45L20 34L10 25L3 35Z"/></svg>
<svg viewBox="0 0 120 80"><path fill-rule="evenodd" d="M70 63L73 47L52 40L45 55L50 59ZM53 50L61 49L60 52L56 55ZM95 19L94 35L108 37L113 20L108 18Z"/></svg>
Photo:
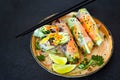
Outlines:
<svg viewBox="0 0 120 80"><path fill-rule="evenodd" d="M48 23L50 23L50 22L52 22L52 21L54 21L54 20L56 20L56 19L58 19L58 18L60 18L60 17L62 17L64 15L66 15L66 14L72 12L72 11L75 11L75 10L85 6L85 5L88 5L88 4L90 4L90 3L94 2L94 1L96 1L96 0L84 0L84 1L82 1L80 3L78 3L77 5L74 5L73 7L69 8L67 10L64 10L63 12L60 12L60 13L58 13L58 14L56 14L56 15L54 15L54 16L52 16L52 17L50 17L50 18L48 18L48 19L46 19L44 21L42 21L41 23L31 27L30 29L28 29L28 30L18 34L16 36L16 38L18 38L20 36L24 36L24 35L32 32L32 31L34 31L35 29L37 29L37 28L39 28L39 27L41 27L41 26L43 26L45 24L48 24Z"/></svg>

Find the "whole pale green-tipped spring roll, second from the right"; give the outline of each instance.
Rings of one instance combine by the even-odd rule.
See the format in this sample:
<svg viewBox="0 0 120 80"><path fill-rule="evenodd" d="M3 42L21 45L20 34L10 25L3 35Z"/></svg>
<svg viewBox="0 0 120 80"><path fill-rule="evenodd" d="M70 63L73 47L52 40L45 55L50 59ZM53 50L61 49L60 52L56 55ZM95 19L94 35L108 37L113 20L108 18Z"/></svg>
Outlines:
<svg viewBox="0 0 120 80"><path fill-rule="evenodd" d="M76 18L68 18L67 24L80 49L83 50L84 53L90 53L90 50L93 47L93 42L85 32L81 23Z"/></svg>

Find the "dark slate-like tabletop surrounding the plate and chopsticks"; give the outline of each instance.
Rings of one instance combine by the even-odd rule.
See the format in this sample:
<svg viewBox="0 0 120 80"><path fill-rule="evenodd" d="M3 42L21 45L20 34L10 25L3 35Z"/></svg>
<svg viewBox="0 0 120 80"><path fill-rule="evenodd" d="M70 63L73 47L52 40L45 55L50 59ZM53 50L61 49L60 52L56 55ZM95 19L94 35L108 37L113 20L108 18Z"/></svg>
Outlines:
<svg viewBox="0 0 120 80"><path fill-rule="evenodd" d="M100 19L114 38L109 63L97 73L67 79L42 69L30 52L31 33L15 35L39 23L44 17L60 12L81 0L0 0L0 80L120 80L120 1L97 0L85 6Z"/></svg>

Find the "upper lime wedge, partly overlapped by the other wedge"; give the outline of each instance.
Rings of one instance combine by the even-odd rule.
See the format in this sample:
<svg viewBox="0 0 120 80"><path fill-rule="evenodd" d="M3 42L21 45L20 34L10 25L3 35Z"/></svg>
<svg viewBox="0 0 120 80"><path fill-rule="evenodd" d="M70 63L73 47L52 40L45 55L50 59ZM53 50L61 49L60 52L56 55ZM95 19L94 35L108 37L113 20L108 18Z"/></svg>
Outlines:
<svg viewBox="0 0 120 80"><path fill-rule="evenodd" d="M66 57L60 57L55 54L49 54L49 56L50 56L50 59L56 64L66 64L67 63Z"/></svg>

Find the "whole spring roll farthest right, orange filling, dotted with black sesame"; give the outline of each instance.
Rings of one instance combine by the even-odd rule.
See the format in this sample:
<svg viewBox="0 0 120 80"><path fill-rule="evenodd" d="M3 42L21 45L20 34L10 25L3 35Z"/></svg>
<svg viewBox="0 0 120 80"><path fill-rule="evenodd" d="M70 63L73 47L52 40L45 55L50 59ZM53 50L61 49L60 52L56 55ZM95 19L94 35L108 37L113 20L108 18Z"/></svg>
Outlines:
<svg viewBox="0 0 120 80"><path fill-rule="evenodd" d="M77 18L80 20L83 27L88 32L89 36L94 41L94 43L99 46L103 40L99 35L99 30L95 21L93 20L92 16L89 14L87 9L80 9L78 11Z"/></svg>

